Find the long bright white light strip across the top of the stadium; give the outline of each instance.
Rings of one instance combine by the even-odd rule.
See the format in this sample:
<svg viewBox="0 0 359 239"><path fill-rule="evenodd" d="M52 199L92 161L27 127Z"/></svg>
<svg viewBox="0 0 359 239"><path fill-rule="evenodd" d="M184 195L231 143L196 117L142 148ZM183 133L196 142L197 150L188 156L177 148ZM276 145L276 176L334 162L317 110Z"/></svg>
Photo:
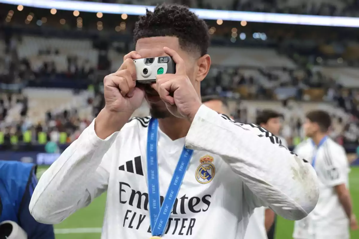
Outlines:
<svg viewBox="0 0 359 239"><path fill-rule="evenodd" d="M0 3L23 5L34 8L59 9L69 11L101 12L110 14L144 15L146 8L154 6L95 3L70 0L0 0ZM207 20L247 21L258 23L299 24L332 27L359 28L359 18L342 16L314 16L282 13L256 13L250 11L226 11L209 9L191 9L200 18Z"/></svg>

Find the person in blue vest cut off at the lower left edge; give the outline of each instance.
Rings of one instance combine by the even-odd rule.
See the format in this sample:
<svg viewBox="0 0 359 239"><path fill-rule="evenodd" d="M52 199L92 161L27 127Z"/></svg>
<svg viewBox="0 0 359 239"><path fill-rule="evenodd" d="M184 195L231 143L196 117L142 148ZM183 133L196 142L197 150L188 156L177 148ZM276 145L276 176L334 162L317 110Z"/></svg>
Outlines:
<svg viewBox="0 0 359 239"><path fill-rule="evenodd" d="M30 215L35 174L33 164L0 160L0 238L9 237L12 231L9 238L27 234L28 239L55 239L52 225L38 223Z"/></svg>

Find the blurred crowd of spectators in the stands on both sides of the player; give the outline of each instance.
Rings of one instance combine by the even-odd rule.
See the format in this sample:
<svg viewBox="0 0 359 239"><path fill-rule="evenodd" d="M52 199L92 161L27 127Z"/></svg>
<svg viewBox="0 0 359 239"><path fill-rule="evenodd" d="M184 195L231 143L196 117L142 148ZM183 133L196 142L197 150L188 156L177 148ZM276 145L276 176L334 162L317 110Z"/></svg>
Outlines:
<svg viewBox="0 0 359 239"><path fill-rule="evenodd" d="M14 148L14 145L45 145L47 142L67 144L75 140L89 125L92 119L104 106L104 98L101 87L94 79L103 79L99 73L99 67L91 65L89 61L79 60L75 55L66 55L67 67L65 71L59 71L53 61L44 61L33 67L33 62L28 58L20 58L17 45L22 39L19 36L5 38L4 46L0 54L0 145L5 149ZM38 56L61 55L61 49L43 48L38 51ZM42 59L42 58L41 58ZM106 75L106 73L105 73ZM263 80L268 82L267 85ZM91 116L80 117L77 108L64 108L46 112L45 120L34 122L28 117L29 99L23 94L23 87L29 82L36 86L42 86L49 81L85 82L88 90L93 92L86 100L86 104L92 110ZM290 94L281 95L279 90L290 90ZM324 76L321 71L313 70L309 64L297 68L275 67L258 68L248 66L224 67L213 66L202 84L203 95L219 94L224 97L241 100L282 100L284 109L292 110L286 106L288 99L296 101L313 101L310 89L321 89L323 94L320 101L331 102L341 108L348 115L348 119L342 119L333 115L332 136L341 144L357 144L359 137L359 91L344 89L331 77ZM74 94L79 90L74 89ZM288 92L287 92L288 93ZM20 120L6 120L9 111L14 107L20 108ZM243 123L248 123L247 110L239 107L232 114ZM303 139L303 116L291 116L284 120L282 135L289 144L297 144Z"/></svg>

